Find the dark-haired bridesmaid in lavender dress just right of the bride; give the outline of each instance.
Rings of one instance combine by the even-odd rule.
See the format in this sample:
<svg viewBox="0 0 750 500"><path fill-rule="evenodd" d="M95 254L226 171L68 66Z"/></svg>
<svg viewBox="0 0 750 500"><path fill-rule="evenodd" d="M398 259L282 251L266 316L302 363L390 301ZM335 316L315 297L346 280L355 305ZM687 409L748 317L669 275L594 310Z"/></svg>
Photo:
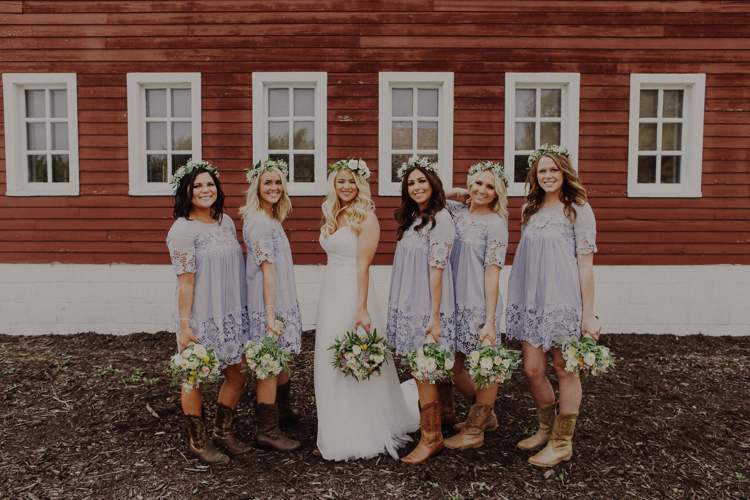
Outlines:
<svg viewBox="0 0 750 500"><path fill-rule="evenodd" d="M386 330L396 353L407 355L431 335L446 349L455 347L455 302L450 253L455 228L446 210L437 163L411 157L398 171L401 206L393 259ZM443 449L442 407L436 385L417 382L420 405L419 445L401 459L422 463Z"/></svg>

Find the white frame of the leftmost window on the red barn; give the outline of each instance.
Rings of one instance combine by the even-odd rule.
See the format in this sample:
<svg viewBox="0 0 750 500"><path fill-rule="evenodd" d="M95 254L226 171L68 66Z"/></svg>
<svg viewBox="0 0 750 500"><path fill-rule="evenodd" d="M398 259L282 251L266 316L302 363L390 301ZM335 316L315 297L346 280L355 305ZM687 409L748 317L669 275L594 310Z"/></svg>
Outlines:
<svg viewBox="0 0 750 500"><path fill-rule="evenodd" d="M2 86L5 103L5 194L7 196L78 196L80 183L76 73L5 73L2 75ZM68 182L28 182L26 96L24 94L27 88L52 90L65 88L68 92ZM49 100L47 100L47 106L49 106ZM52 148L49 136L47 145ZM47 166L48 171L51 168L52 166Z"/></svg>

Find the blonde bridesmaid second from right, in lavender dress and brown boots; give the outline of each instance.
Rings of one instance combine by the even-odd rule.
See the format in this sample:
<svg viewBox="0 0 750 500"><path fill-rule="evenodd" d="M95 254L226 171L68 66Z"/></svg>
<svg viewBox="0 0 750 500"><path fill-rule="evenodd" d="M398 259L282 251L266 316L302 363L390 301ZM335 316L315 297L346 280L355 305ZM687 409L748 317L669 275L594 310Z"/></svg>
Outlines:
<svg viewBox="0 0 750 500"><path fill-rule="evenodd" d="M456 224L456 241L451 251L456 296L454 373L456 385L468 382L469 389L473 389L474 383L463 370L466 355L479 349L485 337L493 346L499 342L502 318L499 276L508 249L508 181L499 163L481 162L469 168L466 186L468 190L446 190L446 195L455 193L471 200L468 208L463 203L448 201L448 204ZM482 323L484 328L480 331ZM484 443L484 430L497 428L496 397L497 384L479 389L466 422L454 426L460 433L444 439L443 445L461 450L479 448Z"/></svg>

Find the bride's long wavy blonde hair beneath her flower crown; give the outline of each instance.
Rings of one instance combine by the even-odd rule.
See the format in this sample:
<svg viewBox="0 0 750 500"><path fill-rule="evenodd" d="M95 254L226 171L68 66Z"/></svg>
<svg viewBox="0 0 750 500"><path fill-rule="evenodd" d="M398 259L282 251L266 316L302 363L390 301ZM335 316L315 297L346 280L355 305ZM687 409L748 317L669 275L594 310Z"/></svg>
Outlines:
<svg viewBox="0 0 750 500"><path fill-rule="evenodd" d="M350 228L355 235L359 236L359 232L362 231L362 221L367 217L368 211L375 211L375 203L372 199L370 191L370 184L368 181L355 172L347 170L354 177L354 184L357 186L357 196L352 202L341 207L341 200L336 194L336 176L338 172L343 172L344 169L339 169L329 174L328 181L326 181L326 199L323 201L323 226L320 228L320 234L323 238L328 238L330 235L338 230L338 223L336 220L341 212L344 212L344 219L349 223Z"/></svg>

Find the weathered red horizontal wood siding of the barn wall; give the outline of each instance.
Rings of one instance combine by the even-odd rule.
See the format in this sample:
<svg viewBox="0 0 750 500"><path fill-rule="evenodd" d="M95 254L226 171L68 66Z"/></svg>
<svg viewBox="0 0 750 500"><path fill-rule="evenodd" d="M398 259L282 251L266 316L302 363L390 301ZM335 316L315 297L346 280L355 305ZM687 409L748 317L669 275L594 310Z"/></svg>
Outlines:
<svg viewBox="0 0 750 500"><path fill-rule="evenodd" d="M398 70L455 73L455 185L476 160L503 156L505 72L581 73L579 169L596 262L750 264L745 1L5 0L0 49L4 73L78 74L81 190L0 195L0 262L168 262L169 199L127 196L125 73L202 73L202 154L240 226L252 72L328 72L329 161L362 156L377 170L377 72ZM626 196L630 73L706 73L702 198ZM0 148L5 193L4 136ZM284 223L299 264L325 262L321 202L294 197ZM399 199L375 202L375 262L389 264ZM510 202L511 253L521 202Z"/></svg>

